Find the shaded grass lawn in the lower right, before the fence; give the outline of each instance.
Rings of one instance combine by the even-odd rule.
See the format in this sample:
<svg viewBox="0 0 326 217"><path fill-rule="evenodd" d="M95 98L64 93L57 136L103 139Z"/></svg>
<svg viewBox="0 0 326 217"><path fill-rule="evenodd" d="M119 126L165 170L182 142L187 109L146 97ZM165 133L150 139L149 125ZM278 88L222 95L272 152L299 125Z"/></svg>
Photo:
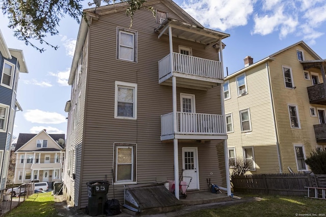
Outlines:
<svg viewBox="0 0 326 217"><path fill-rule="evenodd" d="M248 197L248 196L247 196ZM257 196L259 197L259 196ZM209 216L325 216L326 201L305 197L261 196L261 201L216 207L187 213L182 217ZM234 199L237 200L237 199Z"/></svg>

